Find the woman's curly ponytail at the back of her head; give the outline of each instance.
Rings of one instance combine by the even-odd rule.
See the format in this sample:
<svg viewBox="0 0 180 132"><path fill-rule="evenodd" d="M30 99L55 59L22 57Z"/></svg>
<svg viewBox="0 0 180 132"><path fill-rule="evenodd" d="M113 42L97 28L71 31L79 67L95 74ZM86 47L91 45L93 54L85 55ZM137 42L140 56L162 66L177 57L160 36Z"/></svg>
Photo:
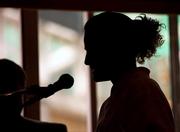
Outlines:
<svg viewBox="0 0 180 132"><path fill-rule="evenodd" d="M138 41L136 60L142 64L145 59L155 55L157 47L164 43L161 29L165 27L156 19L148 18L145 14L137 16L134 20L135 38ZM138 35L138 36L137 36Z"/></svg>

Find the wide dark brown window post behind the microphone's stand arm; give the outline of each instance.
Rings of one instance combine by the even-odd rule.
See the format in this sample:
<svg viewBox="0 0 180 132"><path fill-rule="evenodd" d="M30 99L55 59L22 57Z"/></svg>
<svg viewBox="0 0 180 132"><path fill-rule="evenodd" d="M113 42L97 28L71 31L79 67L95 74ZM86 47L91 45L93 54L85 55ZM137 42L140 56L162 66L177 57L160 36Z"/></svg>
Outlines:
<svg viewBox="0 0 180 132"><path fill-rule="evenodd" d="M38 11L21 9L23 68L27 86L39 84ZM24 108L24 116L39 119L39 102Z"/></svg>

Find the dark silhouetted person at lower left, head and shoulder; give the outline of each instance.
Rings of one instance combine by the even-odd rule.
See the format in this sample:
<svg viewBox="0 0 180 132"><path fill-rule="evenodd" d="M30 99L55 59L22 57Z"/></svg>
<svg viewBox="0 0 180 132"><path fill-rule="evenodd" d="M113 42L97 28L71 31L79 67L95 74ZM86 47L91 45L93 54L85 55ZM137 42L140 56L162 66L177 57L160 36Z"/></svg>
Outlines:
<svg viewBox="0 0 180 132"><path fill-rule="evenodd" d="M24 89L25 83L25 72L19 65L8 59L0 59L0 131L67 132L64 124L41 122L21 115L23 96L7 94Z"/></svg>

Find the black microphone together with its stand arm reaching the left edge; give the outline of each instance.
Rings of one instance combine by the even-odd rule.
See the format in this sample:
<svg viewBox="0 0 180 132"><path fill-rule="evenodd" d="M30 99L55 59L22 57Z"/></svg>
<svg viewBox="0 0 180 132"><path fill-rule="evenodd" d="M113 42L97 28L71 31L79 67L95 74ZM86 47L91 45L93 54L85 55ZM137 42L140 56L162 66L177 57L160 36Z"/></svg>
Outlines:
<svg viewBox="0 0 180 132"><path fill-rule="evenodd" d="M69 74L63 74L53 84L49 84L47 87L41 87L39 85L32 85L28 88L20 89L14 92L0 94L0 100L14 98L27 94L28 100L24 102L22 107L32 104L42 98L47 98L53 95L55 92L62 89L69 89L74 84L74 78Z"/></svg>

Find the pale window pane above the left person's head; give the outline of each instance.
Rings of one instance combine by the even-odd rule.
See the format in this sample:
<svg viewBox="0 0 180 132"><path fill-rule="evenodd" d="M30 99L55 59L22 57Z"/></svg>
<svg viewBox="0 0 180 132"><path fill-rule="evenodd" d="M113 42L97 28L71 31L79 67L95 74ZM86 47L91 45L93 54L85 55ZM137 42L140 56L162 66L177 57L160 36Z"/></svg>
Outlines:
<svg viewBox="0 0 180 132"><path fill-rule="evenodd" d="M0 58L22 65L20 10L0 9Z"/></svg>

